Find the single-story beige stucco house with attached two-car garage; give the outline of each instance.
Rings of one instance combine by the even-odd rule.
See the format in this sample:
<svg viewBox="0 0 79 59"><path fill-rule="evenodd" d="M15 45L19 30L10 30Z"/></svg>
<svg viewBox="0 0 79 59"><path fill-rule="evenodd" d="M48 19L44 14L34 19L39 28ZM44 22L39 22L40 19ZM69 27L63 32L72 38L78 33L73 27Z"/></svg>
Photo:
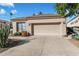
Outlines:
<svg viewBox="0 0 79 59"><path fill-rule="evenodd" d="M12 19L13 33L27 31L31 35L66 35L65 18L43 14Z"/></svg>

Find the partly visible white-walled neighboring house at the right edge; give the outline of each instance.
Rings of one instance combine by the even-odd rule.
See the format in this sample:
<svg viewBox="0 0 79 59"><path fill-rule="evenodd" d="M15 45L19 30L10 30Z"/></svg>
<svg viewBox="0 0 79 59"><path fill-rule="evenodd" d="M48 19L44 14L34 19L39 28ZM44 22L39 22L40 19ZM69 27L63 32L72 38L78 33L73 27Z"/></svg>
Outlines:
<svg viewBox="0 0 79 59"><path fill-rule="evenodd" d="M76 16L75 18L71 19L67 23L67 27L72 28L74 32L79 34L79 16Z"/></svg>

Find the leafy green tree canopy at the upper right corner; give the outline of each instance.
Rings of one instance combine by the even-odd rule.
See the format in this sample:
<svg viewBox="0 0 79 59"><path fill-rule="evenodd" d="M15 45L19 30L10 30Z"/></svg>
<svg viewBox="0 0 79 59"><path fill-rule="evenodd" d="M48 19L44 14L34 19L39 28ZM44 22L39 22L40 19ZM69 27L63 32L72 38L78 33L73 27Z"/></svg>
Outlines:
<svg viewBox="0 0 79 59"><path fill-rule="evenodd" d="M64 16L72 16L77 15L79 12L79 4L78 3L57 3L56 4L57 13Z"/></svg>

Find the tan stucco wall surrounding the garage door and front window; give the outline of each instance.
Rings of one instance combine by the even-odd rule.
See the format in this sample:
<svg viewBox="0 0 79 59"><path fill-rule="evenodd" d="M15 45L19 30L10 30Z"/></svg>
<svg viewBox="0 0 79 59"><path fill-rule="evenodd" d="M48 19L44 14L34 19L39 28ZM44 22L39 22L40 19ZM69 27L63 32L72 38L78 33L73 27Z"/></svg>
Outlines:
<svg viewBox="0 0 79 59"><path fill-rule="evenodd" d="M64 18L59 18L59 19L38 19L38 20L29 20L26 21L25 23L28 24L28 26L26 26L26 30L31 33L31 23L57 23L57 22L61 22L60 26L61 26L61 35L66 35L66 26L65 24L63 24L63 22L65 21ZM16 22L12 22L13 24L13 33L16 32ZM58 25L59 26L59 25Z"/></svg>

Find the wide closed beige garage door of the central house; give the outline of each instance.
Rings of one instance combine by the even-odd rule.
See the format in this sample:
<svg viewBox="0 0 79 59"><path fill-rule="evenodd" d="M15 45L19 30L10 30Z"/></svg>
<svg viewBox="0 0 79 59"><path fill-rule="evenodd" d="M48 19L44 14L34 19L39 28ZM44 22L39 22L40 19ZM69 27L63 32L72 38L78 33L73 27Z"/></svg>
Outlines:
<svg viewBox="0 0 79 59"><path fill-rule="evenodd" d="M61 35L60 23L42 23L33 25L34 35Z"/></svg>

